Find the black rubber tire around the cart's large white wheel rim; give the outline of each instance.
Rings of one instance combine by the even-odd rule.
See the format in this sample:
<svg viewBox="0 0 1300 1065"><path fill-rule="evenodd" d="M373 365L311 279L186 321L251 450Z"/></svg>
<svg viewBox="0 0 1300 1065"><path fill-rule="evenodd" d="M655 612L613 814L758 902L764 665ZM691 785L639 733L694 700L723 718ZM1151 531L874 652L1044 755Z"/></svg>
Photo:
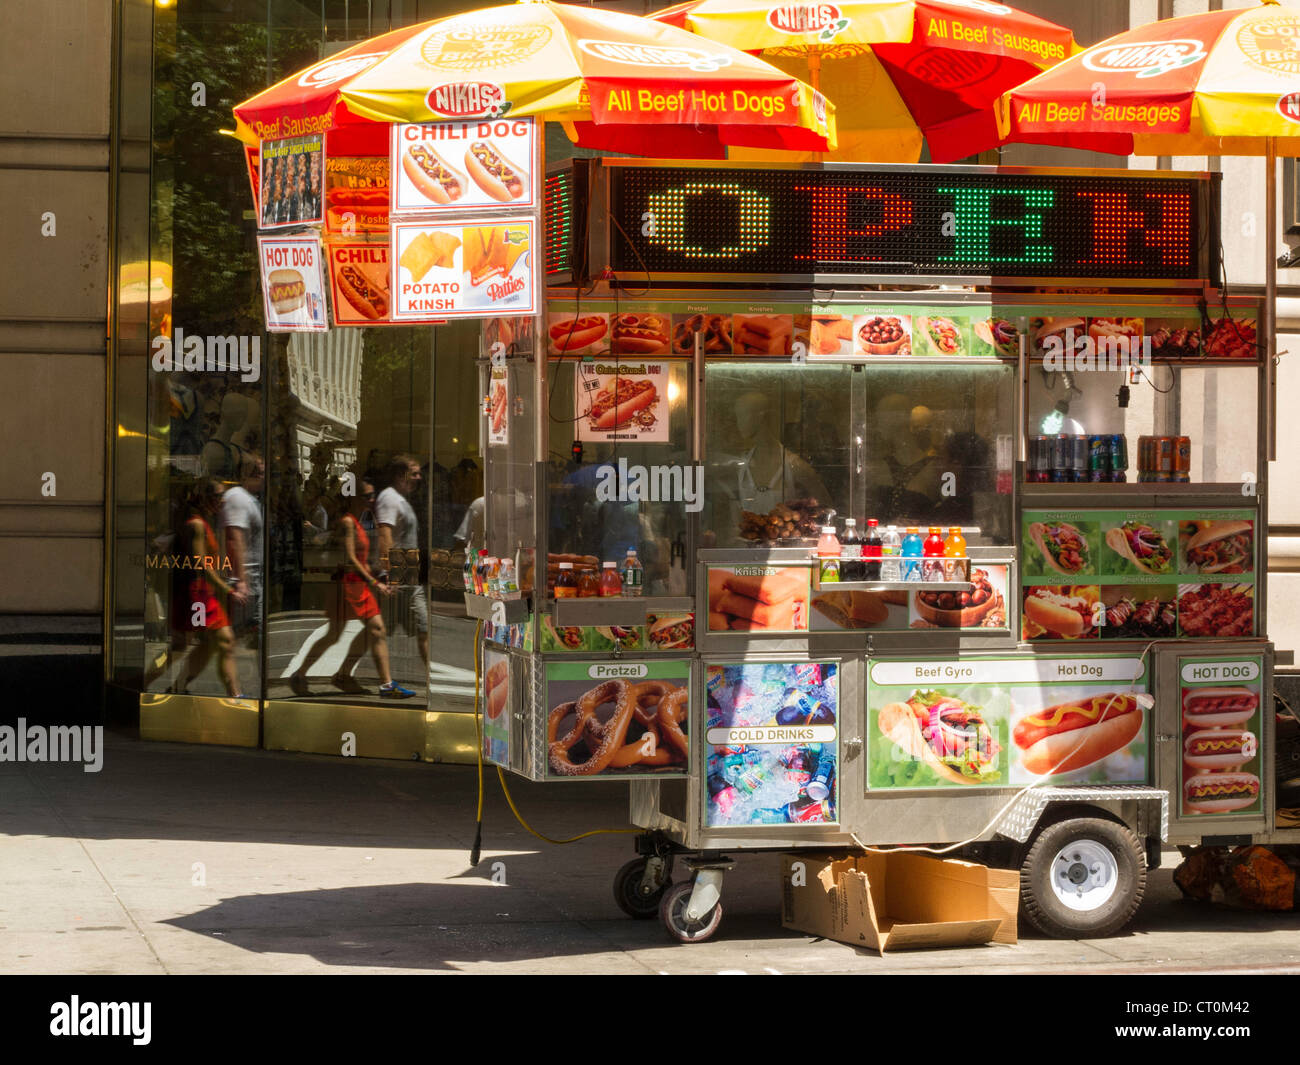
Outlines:
<svg viewBox="0 0 1300 1065"><path fill-rule="evenodd" d="M1118 869L1115 893L1095 910L1062 905L1050 884L1052 862L1062 848L1092 840L1110 852ZM1044 828L1020 865L1020 910L1030 923L1054 939L1097 939L1114 935L1141 905L1147 891L1147 857L1141 840L1123 824L1102 818L1058 821Z"/></svg>

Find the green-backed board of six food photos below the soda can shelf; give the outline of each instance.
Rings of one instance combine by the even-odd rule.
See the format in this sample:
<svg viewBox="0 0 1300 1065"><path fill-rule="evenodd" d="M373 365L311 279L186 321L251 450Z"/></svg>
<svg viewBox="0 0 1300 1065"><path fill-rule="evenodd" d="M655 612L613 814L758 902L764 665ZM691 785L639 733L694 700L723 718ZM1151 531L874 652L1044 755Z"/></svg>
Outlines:
<svg viewBox="0 0 1300 1065"><path fill-rule="evenodd" d="M1024 640L1253 636L1253 510L1026 511Z"/></svg>

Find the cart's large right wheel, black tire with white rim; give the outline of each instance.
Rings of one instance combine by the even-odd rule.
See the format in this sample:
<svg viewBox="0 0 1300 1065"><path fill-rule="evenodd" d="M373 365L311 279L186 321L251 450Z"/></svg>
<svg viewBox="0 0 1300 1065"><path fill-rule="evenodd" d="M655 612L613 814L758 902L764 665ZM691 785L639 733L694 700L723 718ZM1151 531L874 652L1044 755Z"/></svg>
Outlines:
<svg viewBox="0 0 1300 1065"><path fill-rule="evenodd" d="M1113 935L1136 913L1145 889L1140 840L1101 818L1049 824L1020 866L1024 915L1057 939Z"/></svg>

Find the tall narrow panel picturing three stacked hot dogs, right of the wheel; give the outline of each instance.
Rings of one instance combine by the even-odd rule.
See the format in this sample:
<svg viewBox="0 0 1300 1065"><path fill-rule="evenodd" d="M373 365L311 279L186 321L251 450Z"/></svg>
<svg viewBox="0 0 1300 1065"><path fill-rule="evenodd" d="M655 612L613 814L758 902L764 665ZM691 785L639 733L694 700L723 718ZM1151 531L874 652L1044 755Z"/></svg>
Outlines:
<svg viewBox="0 0 1300 1065"><path fill-rule="evenodd" d="M1183 666L1182 813L1254 814L1260 795L1264 730L1258 668L1240 659ZM1244 684L1188 684L1191 676L1251 676Z"/></svg>

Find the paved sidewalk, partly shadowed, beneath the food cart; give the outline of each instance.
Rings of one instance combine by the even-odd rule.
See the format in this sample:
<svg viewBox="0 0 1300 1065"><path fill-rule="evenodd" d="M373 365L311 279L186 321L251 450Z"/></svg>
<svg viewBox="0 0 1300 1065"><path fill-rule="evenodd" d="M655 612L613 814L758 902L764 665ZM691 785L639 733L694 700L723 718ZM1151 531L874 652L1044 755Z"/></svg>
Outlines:
<svg viewBox="0 0 1300 1065"><path fill-rule="evenodd" d="M615 906L630 837L541 844L494 772L469 869L473 767L105 745L99 774L0 763L0 971L1300 971L1300 914L1183 902L1176 854L1114 939L1022 926L1017 947L887 957L783 930L779 858L742 856L718 936L677 945ZM510 785L549 835L625 826L623 785Z"/></svg>

